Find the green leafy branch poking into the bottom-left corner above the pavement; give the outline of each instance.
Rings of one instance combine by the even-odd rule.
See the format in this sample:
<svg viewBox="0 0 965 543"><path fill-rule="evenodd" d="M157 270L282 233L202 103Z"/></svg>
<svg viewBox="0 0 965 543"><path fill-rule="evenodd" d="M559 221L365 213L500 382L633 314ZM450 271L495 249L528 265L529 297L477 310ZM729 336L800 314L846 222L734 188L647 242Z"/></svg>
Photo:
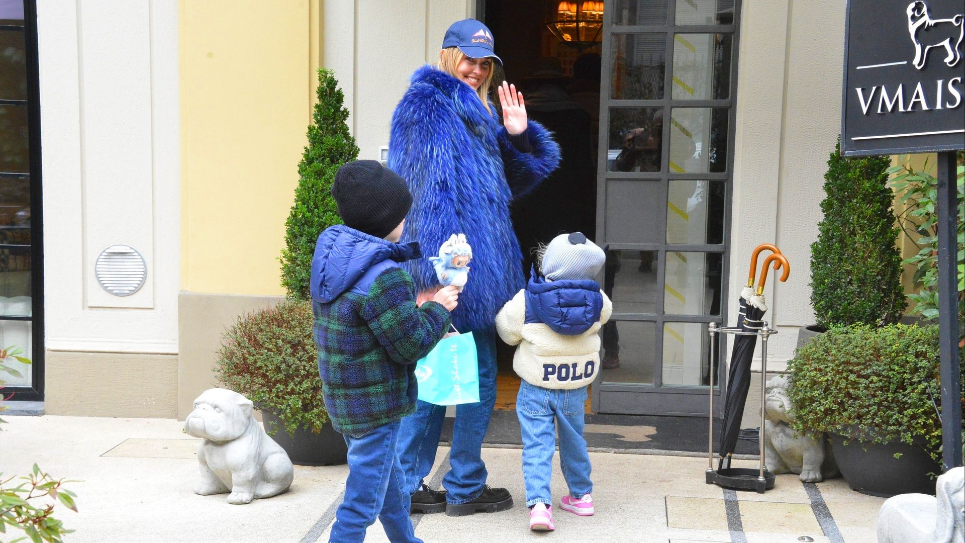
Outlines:
<svg viewBox="0 0 965 543"><path fill-rule="evenodd" d="M14 479L22 480L12 486ZM61 537L72 529L64 528L64 523L52 515L57 500L77 510L74 493L63 488L65 483L76 482L54 479L34 464L29 476L0 477L0 533L6 533L11 526L22 529L26 536L17 537L11 543L26 541L33 543L63 543ZM46 498L47 500L43 500Z"/></svg>

